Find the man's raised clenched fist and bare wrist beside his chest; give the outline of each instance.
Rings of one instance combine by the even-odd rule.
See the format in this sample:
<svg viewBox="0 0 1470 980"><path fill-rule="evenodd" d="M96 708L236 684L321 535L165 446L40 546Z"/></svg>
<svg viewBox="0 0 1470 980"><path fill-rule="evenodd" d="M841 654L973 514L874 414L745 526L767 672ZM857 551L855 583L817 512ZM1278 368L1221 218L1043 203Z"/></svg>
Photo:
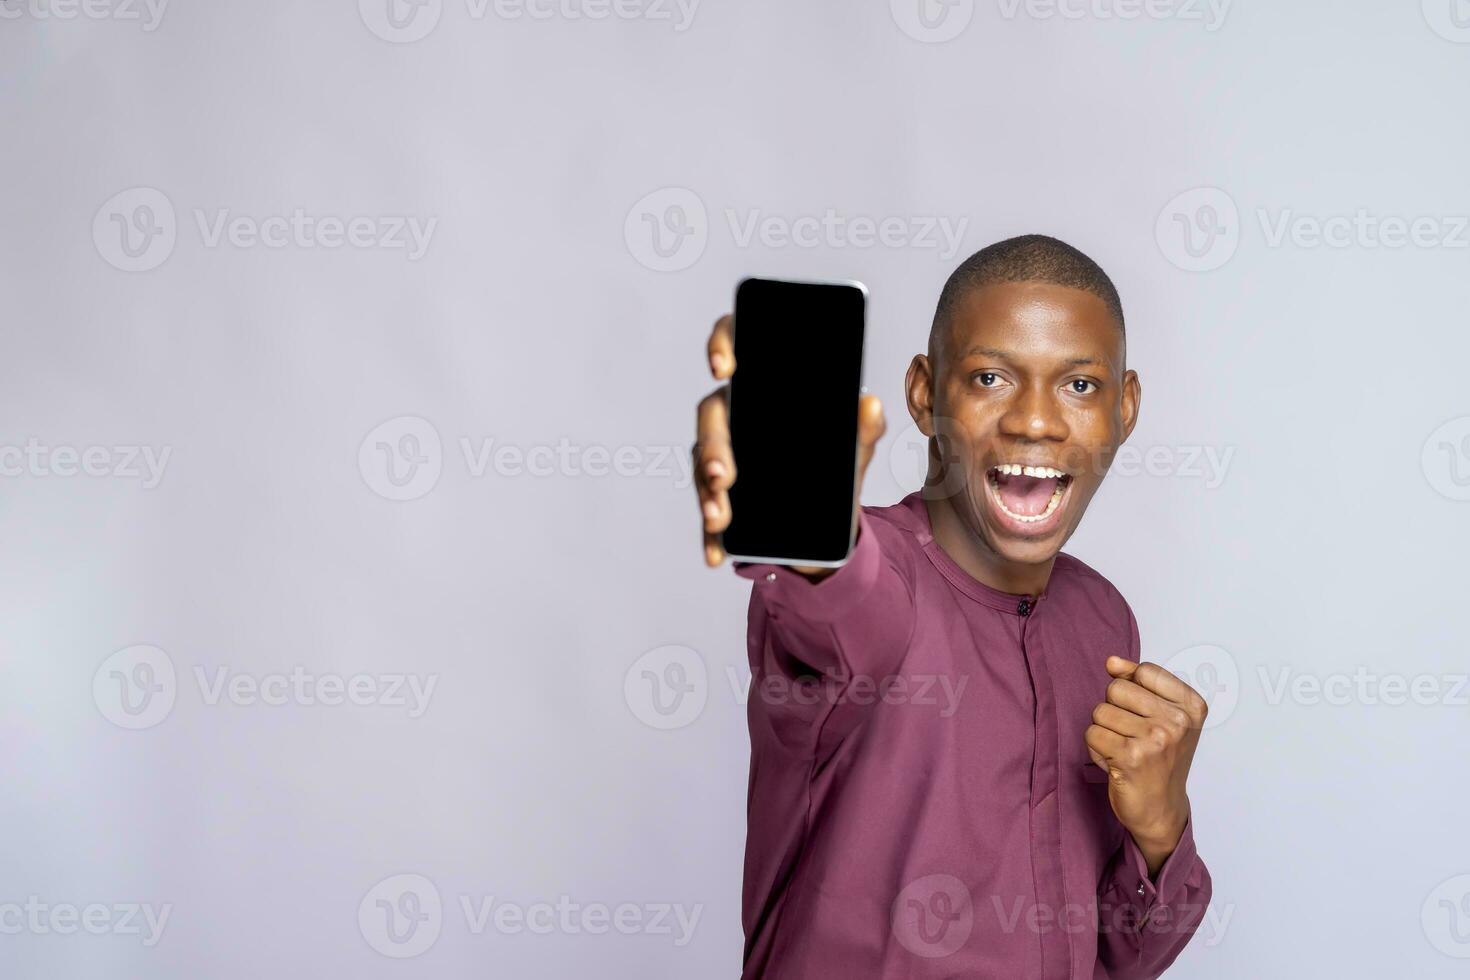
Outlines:
<svg viewBox="0 0 1470 980"><path fill-rule="evenodd" d="M1157 874L1189 821L1185 783L1204 726L1204 698L1158 664L1108 657L1107 701L1092 710L1085 739L1108 773L1108 801Z"/></svg>

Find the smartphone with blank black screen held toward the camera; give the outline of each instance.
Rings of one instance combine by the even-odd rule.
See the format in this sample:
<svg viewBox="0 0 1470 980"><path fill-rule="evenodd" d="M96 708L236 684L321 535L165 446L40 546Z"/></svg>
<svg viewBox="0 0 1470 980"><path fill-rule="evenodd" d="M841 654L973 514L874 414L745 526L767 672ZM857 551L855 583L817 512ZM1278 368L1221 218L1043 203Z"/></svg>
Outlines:
<svg viewBox="0 0 1470 980"><path fill-rule="evenodd" d="M866 320L861 282L735 288L731 558L835 567L853 552Z"/></svg>

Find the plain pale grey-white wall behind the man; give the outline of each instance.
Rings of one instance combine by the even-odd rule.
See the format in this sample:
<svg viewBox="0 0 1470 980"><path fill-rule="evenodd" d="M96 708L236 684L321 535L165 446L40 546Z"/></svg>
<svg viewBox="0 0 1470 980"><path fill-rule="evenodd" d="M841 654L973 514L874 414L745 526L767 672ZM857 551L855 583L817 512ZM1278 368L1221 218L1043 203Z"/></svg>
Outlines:
<svg viewBox="0 0 1470 980"><path fill-rule="evenodd" d="M0 3L0 973L735 976L707 328L866 281L891 502L939 285L1042 231L1116 278L1154 450L1070 550L1216 701L1173 976L1463 976L1464 0L392 1ZM625 692L667 645L672 718Z"/></svg>

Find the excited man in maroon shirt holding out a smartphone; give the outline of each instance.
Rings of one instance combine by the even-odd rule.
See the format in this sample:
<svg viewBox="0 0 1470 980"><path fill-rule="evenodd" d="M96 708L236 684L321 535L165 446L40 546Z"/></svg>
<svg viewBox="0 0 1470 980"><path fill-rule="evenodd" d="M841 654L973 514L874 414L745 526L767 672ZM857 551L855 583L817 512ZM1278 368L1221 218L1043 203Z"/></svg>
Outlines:
<svg viewBox="0 0 1470 980"><path fill-rule="evenodd" d="M736 369L729 317L709 361ZM1061 554L1138 419L1117 289L1054 238L991 245L906 391L925 489L861 508L839 569L736 569L744 977L1155 977L1210 899L1185 790L1205 704L1139 666L1127 602ZM709 564L738 476L725 406L698 410ZM858 413L861 473L883 416Z"/></svg>

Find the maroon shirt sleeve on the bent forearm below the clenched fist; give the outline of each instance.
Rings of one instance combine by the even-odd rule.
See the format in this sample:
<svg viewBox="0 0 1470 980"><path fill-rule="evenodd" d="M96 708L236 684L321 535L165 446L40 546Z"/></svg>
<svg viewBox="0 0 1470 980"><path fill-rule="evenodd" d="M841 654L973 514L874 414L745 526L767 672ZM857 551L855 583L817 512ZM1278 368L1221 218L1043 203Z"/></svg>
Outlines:
<svg viewBox="0 0 1470 980"><path fill-rule="evenodd" d="M1098 886L1098 962L1113 980L1151 980L1169 968L1204 920L1210 871L1194 842L1194 820L1158 876L1133 837L1113 855Z"/></svg>

